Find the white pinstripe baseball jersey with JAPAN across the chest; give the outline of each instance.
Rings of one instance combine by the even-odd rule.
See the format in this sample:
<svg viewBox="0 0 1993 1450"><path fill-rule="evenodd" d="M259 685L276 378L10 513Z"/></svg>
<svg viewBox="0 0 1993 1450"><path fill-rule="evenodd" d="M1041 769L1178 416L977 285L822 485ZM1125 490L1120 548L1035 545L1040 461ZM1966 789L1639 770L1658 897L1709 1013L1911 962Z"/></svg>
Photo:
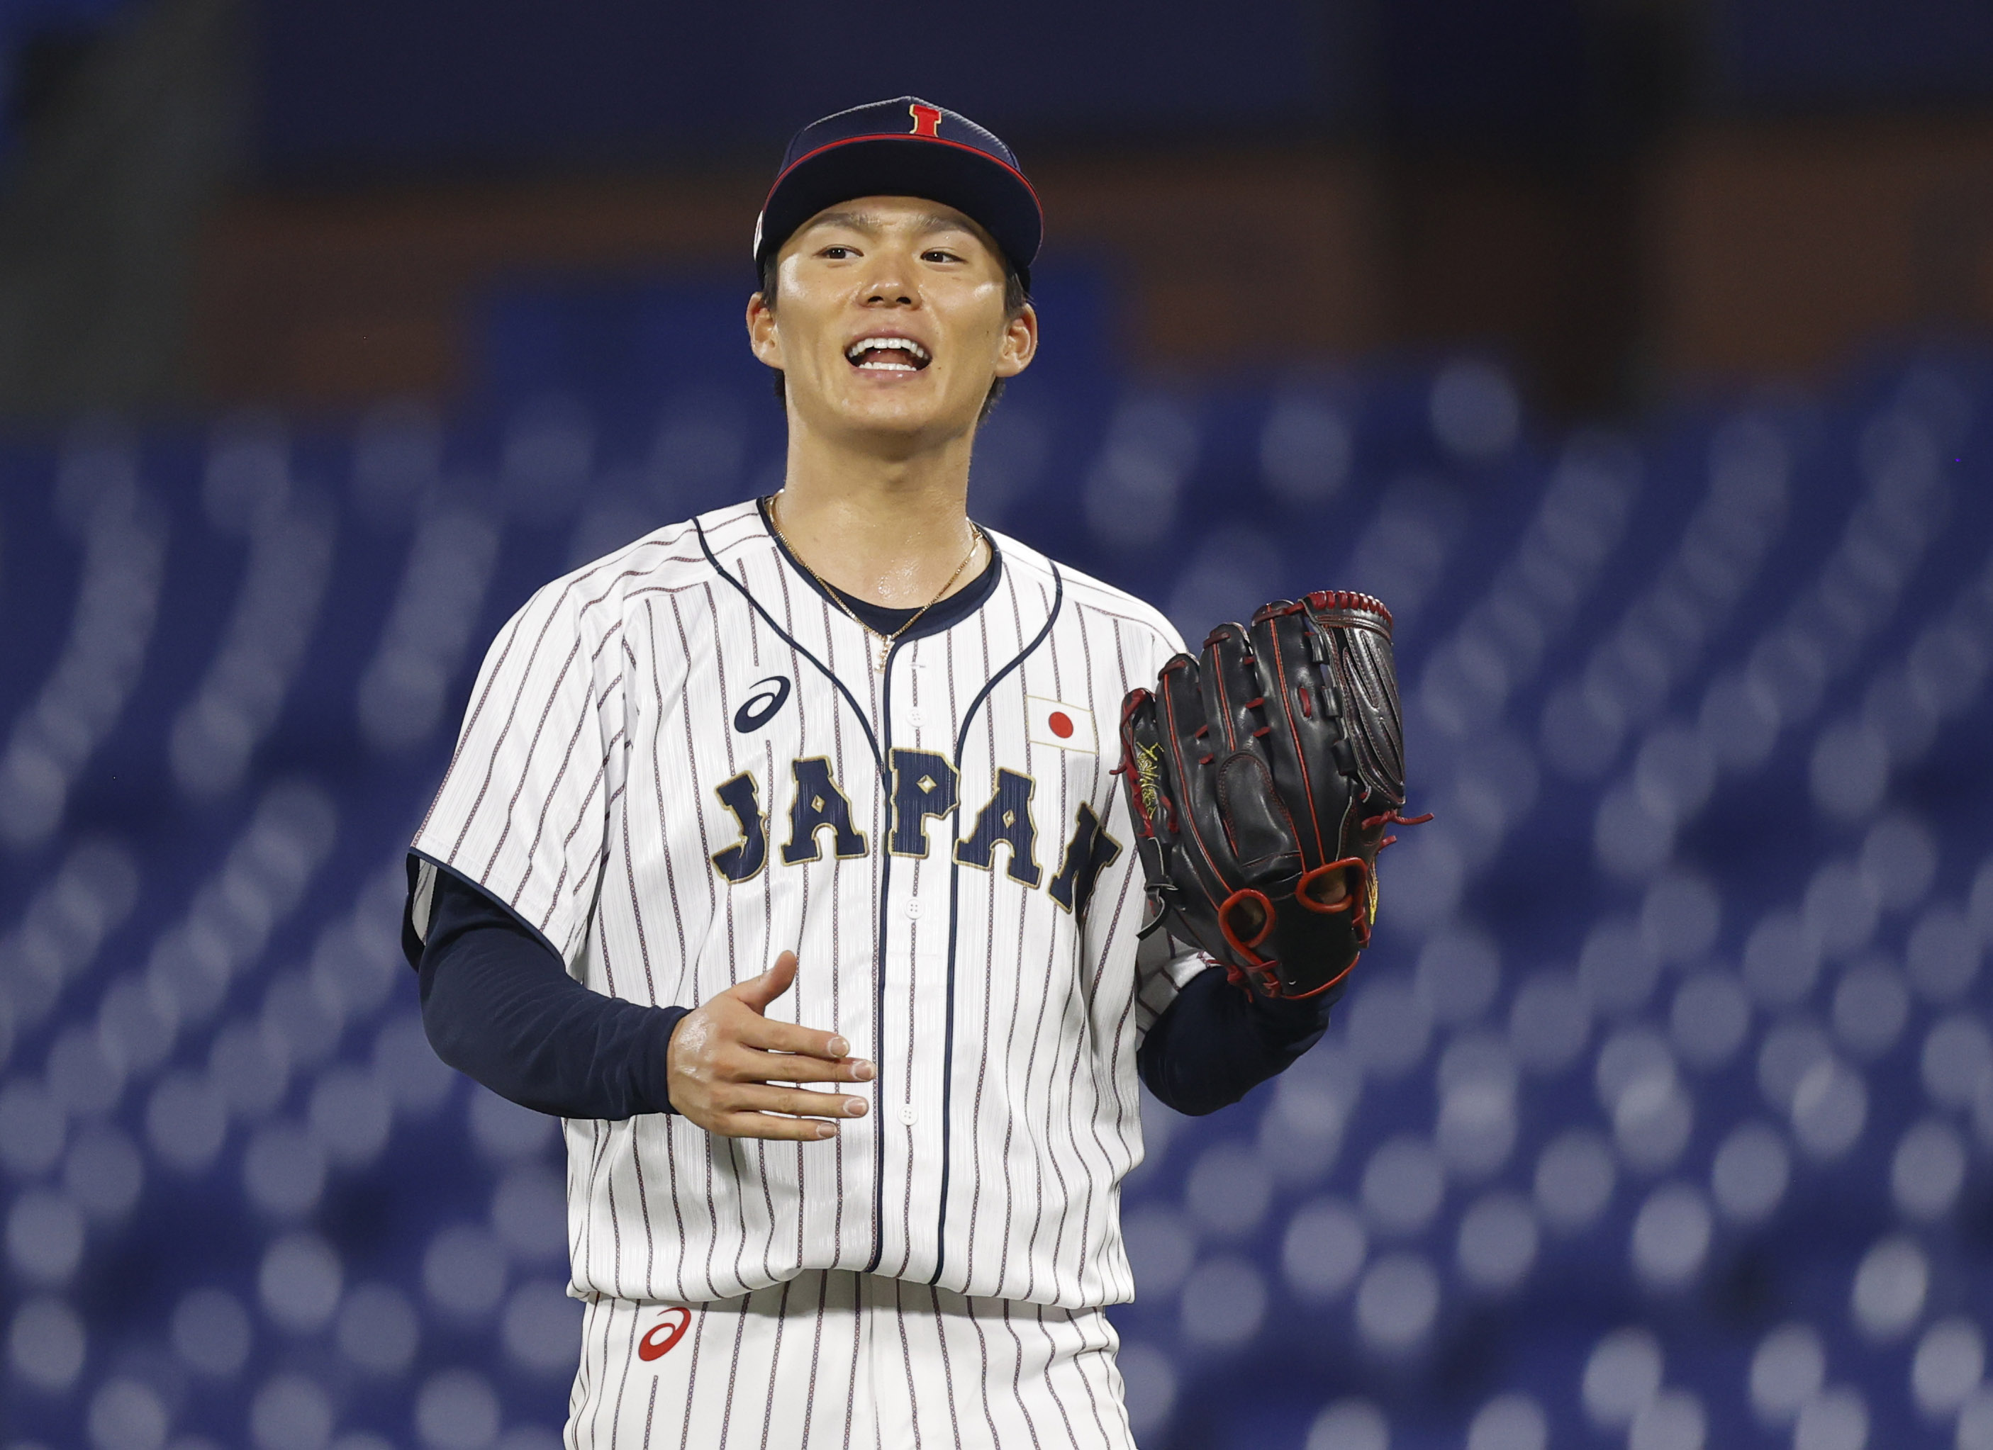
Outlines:
<svg viewBox="0 0 1993 1450"><path fill-rule="evenodd" d="M706 1303L857 1269L1068 1309L1132 1297L1136 1044L1204 964L1138 966L1110 769L1122 695L1180 641L995 538L989 598L885 673L753 504L556 580L492 643L419 858L634 1002L696 1006L793 948L769 1014L879 1066L857 1088L871 1113L821 1143L570 1119L580 1293Z"/></svg>

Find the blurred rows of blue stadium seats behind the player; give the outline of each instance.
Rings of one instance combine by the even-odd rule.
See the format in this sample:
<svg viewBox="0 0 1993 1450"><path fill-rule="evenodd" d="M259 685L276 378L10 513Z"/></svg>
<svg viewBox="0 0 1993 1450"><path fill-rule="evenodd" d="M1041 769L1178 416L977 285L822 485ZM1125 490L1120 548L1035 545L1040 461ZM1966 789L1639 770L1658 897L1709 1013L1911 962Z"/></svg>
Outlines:
<svg viewBox="0 0 1993 1450"><path fill-rule="evenodd" d="M558 1442L558 1135L430 1056L401 852L534 586L775 486L715 376L0 456L8 1438ZM998 408L979 518L1192 637L1385 598L1439 817L1327 1042L1148 1103L1144 1446L1993 1446L1989 404L1933 357L1626 436L1479 361Z"/></svg>

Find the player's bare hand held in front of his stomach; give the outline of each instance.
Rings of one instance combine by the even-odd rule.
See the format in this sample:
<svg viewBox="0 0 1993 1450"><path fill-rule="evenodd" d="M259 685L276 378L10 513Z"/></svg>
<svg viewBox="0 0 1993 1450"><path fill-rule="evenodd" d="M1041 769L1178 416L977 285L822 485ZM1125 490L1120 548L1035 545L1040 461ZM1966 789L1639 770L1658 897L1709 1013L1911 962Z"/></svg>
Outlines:
<svg viewBox="0 0 1993 1450"><path fill-rule="evenodd" d="M729 986L688 1012L672 1032L666 1089L672 1107L721 1137L837 1137L839 1117L863 1117L865 1099L773 1084L871 1082L877 1070L849 1058L851 1044L763 1016L795 982L795 952L761 976Z"/></svg>

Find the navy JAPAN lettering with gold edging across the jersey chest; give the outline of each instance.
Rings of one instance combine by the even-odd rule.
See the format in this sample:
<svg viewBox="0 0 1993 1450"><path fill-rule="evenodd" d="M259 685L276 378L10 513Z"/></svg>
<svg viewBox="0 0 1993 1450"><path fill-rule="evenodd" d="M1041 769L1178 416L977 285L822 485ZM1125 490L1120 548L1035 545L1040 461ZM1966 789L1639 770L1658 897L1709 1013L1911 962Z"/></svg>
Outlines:
<svg viewBox="0 0 1993 1450"><path fill-rule="evenodd" d="M891 767L893 799L887 850L895 856L925 858L931 848L929 823L961 819L961 777L949 757L937 751L895 749ZM781 864L801 866L823 860L825 833L829 833L831 854L839 860L871 852L871 841L857 829L851 799L837 785L827 757L811 755L791 761L787 775L787 809L781 819L789 839L773 852ZM998 848L1002 848L1004 874L1010 880L1026 888L1044 882L1044 868L1038 864L1038 821L1032 815L1036 791L1038 783L1022 771L998 769L991 799L977 809L975 825L961 833L949 850L955 862L977 870L995 870ZM763 809L761 779L753 771L741 771L721 781L713 787L713 795L719 797L719 805L727 809L739 829L739 841L713 852L713 868L737 886L753 880L767 866L769 821L775 813ZM773 803L769 805L773 807ZM951 829L949 835L957 835L957 831ZM1046 894L1068 912L1084 912L1094 892L1094 880L1120 852L1122 845L1108 835L1092 805L1082 801L1072 813L1072 833L1060 850L1058 872L1044 886Z"/></svg>

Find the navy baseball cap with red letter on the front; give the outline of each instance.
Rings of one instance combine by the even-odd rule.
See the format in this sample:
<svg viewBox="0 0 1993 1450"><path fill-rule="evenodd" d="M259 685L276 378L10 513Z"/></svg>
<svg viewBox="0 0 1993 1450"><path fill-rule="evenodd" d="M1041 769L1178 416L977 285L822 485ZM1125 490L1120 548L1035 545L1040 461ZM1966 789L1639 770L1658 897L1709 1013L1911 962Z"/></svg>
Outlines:
<svg viewBox="0 0 1993 1450"><path fill-rule="evenodd" d="M805 125L789 137L753 223L755 269L813 215L853 197L925 197L955 207L996 239L1030 289L1044 237L1038 193L1010 147L967 116L901 96Z"/></svg>

